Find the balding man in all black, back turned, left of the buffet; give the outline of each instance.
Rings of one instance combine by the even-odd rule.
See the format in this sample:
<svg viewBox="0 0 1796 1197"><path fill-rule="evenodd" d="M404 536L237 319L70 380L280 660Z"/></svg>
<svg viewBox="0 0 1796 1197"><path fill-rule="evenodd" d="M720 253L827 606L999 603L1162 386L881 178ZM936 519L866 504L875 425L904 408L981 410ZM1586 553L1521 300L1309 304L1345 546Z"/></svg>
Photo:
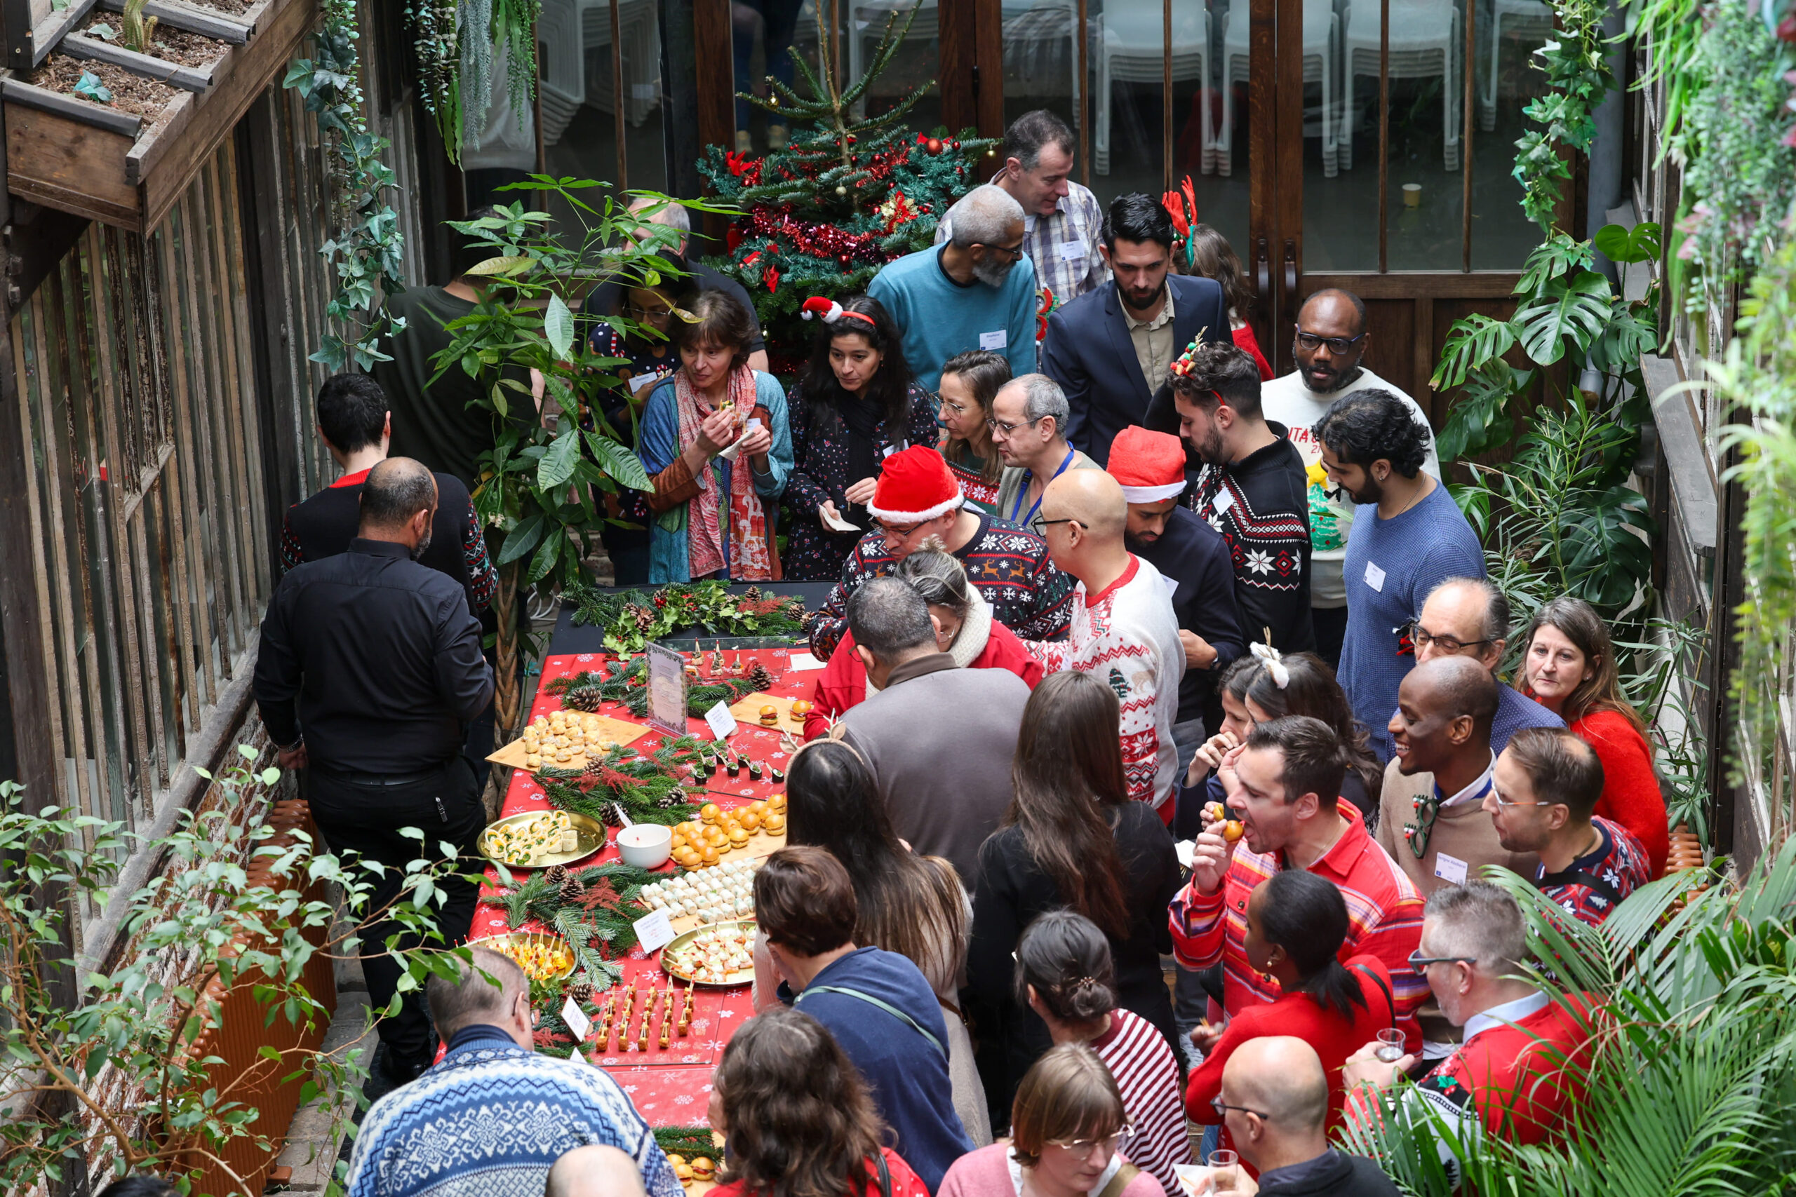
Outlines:
<svg viewBox="0 0 1796 1197"><path fill-rule="evenodd" d="M332 851L386 867L370 910L399 894L406 865L449 842L474 858L487 826L474 766L462 754L469 723L492 702L492 669L465 587L418 556L431 542L436 479L411 458L388 458L361 488L348 551L287 571L268 601L253 693L280 768L304 768L313 820ZM402 829L424 831L422 843ZM427 845L427 847L426 847ZM476 885L438 883L438 928L467 937ZM395 924L363 928L368 1000L384 1009L402 964L384 944ZM406 937L401 948L413 948ZM381 1019L375 1089L404 1084L436 1057L417 992Z"/></svg>

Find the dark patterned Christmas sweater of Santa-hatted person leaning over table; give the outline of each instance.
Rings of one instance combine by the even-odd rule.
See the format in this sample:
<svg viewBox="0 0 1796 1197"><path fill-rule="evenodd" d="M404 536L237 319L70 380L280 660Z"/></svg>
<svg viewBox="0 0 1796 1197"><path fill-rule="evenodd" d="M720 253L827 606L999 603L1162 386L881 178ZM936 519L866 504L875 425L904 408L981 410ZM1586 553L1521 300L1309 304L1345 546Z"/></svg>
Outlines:
<svg viewBox="0 0 1796 1197"><path fill-rule="evenodd" d="M991 617L1018 637L1052 641L1067 635L1072 578L1054 569L1040 537L981 515L979 531L954 556L966 567L966 580L991 605ZM848 596L860 583L884 578L896 567L898 558L885 551L884 533L871 531L860 538L842 565L842 580L810 617L810 651L817 660L828 660L848 632Z"/></svg>

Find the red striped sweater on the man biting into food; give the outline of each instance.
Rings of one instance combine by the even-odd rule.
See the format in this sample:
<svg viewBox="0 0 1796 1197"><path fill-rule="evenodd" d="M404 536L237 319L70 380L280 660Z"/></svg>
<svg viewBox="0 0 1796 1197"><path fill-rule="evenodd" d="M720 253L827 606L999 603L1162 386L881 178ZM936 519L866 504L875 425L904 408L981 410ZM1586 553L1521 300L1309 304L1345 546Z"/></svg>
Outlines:
<svg viewBox="0 0 1796 1197"><path fill-rule="evenodd" d="M1410 965L1410 953L1422 942L1422 897L1385 854L1351 802L1334 806L1347 829L1309 872L1333 881L1347 899L1347 939L1340 958L1378 957L1390 971L1397 1025L1410 1050L1421 1046L1415 1009L1428 998L1428 982ZM1214 894L1191 881L1171 906L1173 955L1189 969L1223 965L1223 1010L1234 1014L1254 1001L1284 996L1279 982L1255 973L1246 962L1246 897L1284 869L1282 852L1261 856L1237 843L1228 874Z"/></svg>

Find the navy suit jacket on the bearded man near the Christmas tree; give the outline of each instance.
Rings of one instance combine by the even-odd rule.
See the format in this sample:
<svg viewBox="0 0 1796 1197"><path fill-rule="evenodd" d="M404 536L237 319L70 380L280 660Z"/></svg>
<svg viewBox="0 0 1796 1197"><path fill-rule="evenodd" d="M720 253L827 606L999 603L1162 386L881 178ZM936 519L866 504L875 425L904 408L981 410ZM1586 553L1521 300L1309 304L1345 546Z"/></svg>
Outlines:
<svg viewBox="0 0 1796 1197"><path fill-rule="evenodd" d="M1232 341L1228 301L1209 278L1167 275L1173 289L1173 355L1203 330L1205 341ZM1097 465L1110 463L1110 441L1131 424L1144 424L1157 395L1148 391L1122 319L1115 280L1087 291L1047 318L1042 373L1060 384L1072 406L1067 440ZM1169 388L1160 386L1160 393ZM1167 407L1171 400L1162 400ZM1178 431L1176 427L1173 429Z"/></svg>

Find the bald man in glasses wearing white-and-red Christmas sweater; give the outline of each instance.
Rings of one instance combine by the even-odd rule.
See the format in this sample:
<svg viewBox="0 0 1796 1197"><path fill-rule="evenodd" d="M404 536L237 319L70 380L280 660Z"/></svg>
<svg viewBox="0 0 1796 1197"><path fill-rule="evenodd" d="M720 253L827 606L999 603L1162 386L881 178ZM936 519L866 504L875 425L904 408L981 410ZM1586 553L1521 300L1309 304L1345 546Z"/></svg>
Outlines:
<svg viewBox="0 0 1796 1197"><path fill-rule="evenodd" d="M1178 748L1178 682L1185 646L1173 596L1148 562L1128 551L1128 501L1103 470L1070 470L1042 492L1042 538L1072 590L1072 630L1061 644L1027 641L1049 673L1094 673L1122 707L1122 770L1130 797L1173 820Z"/></svg>

